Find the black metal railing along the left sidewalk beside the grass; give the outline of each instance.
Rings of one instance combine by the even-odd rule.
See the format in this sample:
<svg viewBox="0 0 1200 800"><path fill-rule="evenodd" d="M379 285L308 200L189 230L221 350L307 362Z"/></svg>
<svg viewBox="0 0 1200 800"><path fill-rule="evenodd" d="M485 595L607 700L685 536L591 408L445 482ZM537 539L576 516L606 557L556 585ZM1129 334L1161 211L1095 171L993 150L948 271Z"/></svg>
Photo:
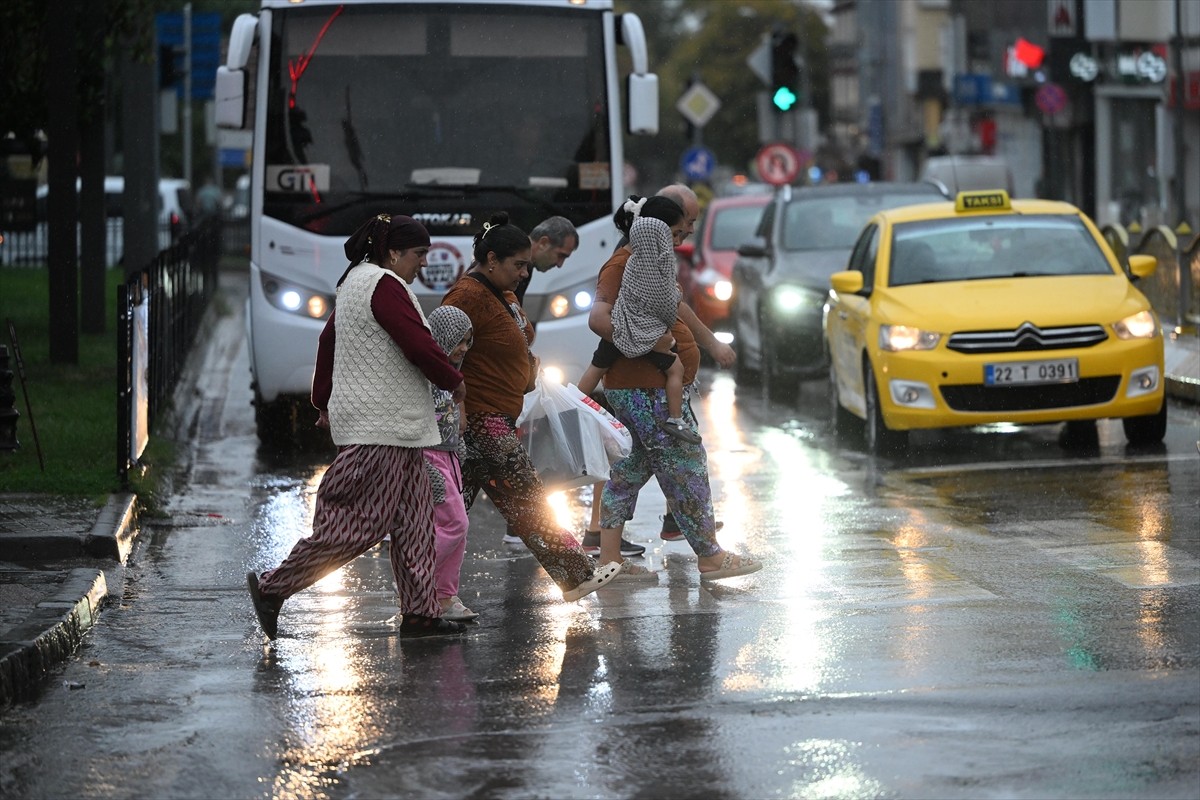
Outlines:
<svg viewBox="0 0 1200 800"><path fill-rule="evenodd" d="M116 299L116 467L121 486L128 486L136 463L133 414L146 403L146 422L154 428L169 403L184 362L199 330L204 311L217 289L221 259L221 221L203 221L178 243L158 253L154 261L133 273L119 288ZM148 302L145 337L146 381L144 398L136 390L136 309Z"/></svg>

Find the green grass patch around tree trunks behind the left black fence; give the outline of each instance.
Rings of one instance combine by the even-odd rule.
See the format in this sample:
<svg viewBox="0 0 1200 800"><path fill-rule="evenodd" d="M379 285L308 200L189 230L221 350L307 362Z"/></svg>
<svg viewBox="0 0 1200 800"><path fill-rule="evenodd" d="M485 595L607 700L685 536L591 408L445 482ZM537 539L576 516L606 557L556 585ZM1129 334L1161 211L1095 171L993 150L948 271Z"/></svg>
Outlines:
<svg viewBox="0 0 1200 800"><path fill-rule="evenodd" d="M49 357L49 272L0 267L0 343L8 342L8 319L17 329L25 362L32 421L46 471L38 467L29 409L10 347L17 451L0 450L0 492L90 497L97 503L119 491L116 465L116 289L121 270L108 270L106 332L79 335L79 363ZM97 302L79 297L79 303Z"/></svg>

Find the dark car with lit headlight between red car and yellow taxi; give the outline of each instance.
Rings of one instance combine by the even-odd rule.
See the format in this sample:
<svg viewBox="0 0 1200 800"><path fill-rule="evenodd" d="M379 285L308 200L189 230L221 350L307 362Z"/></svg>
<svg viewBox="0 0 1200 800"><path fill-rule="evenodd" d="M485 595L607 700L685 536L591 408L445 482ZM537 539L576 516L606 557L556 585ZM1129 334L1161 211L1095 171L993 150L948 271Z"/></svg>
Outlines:
<svg viewBox="0 0 1200 800"><path fill-rule="evenodd" d="M767 380L794 395L828 371L821 314L829 276L846 269L866 221L886 209L946 199L934 184L784 187L763 209L756 241L733 264L733 345L738 383Z"/></svg>

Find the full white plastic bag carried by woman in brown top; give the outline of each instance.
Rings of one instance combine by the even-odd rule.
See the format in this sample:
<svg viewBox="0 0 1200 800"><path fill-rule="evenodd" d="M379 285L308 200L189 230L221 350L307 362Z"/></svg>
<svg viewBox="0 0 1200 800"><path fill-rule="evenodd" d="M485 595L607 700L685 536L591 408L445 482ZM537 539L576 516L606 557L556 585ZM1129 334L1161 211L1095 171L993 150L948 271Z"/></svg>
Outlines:
<svg viewBox="0 0 1200 800"><path fill-rule="evenodd" d="M574 385L564 386L540 375L536 389L526 395L517 417L517 438L547 488L557 491L607 481L611 462L619 458L610 459L606 437L618 440L622 433L628 437L629 446L623 453L617 446L611 449L619 457L629 455L632 447L629 431L594 405ZM613 428L605 416L619 428ZM613 433L606 433L606 428Z"/></svg>

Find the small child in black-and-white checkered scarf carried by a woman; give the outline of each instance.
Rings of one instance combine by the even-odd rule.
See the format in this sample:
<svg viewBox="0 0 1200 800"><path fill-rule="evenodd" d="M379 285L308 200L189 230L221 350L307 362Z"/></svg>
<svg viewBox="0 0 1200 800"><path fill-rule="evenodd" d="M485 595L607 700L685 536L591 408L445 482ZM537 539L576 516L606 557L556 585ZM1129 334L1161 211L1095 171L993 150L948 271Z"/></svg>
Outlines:
<svg viewBox="0 0 1200 800"><path fill-rule="evenodd" d="M594 392L618 356L644 357L666 377L667 419L659 420L659 427L697 444L700 434L683 421L683 362L673 353L671 336L683 300L672 228L683 224L684 211L666 197L630 198L613 222L629 236L631 254L612 307L612 342L600 339L578 389Z"/></svg>

